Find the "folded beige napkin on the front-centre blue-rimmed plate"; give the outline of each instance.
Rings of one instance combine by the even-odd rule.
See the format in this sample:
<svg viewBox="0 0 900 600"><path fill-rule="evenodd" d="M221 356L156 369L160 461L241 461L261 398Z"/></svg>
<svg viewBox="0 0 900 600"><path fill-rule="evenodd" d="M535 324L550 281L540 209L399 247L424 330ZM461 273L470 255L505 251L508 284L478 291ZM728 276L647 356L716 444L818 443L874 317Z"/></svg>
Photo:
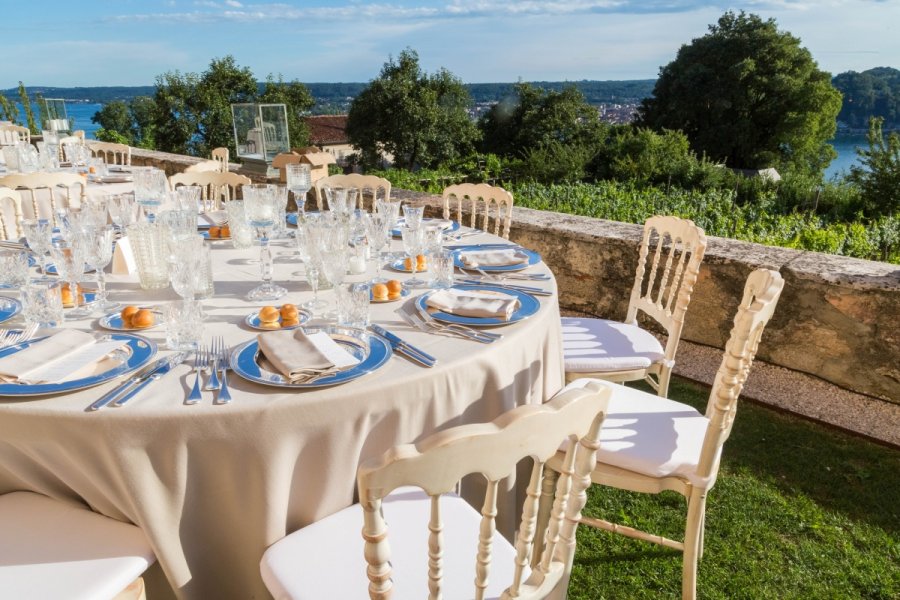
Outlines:
<svg viewBox="0 0 900 600"><path fill-rule="evenodd" d="M359 362L324 331L270 331L256 339L266 360L291 383L306 383Z"/></svg>

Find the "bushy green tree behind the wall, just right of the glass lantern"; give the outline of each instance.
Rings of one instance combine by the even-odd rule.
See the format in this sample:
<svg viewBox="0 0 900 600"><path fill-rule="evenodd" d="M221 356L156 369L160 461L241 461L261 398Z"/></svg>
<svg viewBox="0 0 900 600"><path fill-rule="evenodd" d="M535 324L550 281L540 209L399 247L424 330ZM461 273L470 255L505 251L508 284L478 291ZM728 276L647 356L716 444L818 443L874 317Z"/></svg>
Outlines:
<svg viewBox="0 0 900 600"><path fill-rule="evenodd" d="M471 152L478 131L469 103L459 79L445 69L424 73L419 55L407 48L353 100L347 136L366 166L387 153L399 167L434 167Z"/></svg>

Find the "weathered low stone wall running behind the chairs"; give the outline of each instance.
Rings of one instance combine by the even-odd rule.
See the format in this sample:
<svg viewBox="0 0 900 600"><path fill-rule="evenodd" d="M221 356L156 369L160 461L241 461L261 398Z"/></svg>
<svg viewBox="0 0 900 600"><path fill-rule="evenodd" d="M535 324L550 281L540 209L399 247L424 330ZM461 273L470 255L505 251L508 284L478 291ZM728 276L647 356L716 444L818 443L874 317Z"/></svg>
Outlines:
<svg viewBox="0 0 900 600"><path fill-rule="evenodd" d="M439 212L440 198L396 190ZM553 269L560 305L625 317L641 227L527 208L513 210L512 240ZM710 237L683 339L723 348L744 280L778 270L785 289L760 359L900 403L900 266Z"/></svg>

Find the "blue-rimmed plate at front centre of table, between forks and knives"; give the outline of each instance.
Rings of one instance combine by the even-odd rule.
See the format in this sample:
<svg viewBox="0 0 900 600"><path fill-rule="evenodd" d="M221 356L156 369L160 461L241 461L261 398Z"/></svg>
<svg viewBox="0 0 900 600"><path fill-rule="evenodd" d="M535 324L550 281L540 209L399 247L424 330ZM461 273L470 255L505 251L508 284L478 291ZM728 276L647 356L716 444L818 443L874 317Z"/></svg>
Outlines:
<svg viewBox="0 0 900 600"><path fill-rule="evenodd" d="M231 354L231 368L248 381L292 389L315 389L347 383L372 373L391 357L390 345L377 335L352 327L304 327L306 333L326 332L331 339L355 356L359 363L337 373L308 383L290 383L284 375L260 366L259 342L255 339L235 348Z"/></svg>

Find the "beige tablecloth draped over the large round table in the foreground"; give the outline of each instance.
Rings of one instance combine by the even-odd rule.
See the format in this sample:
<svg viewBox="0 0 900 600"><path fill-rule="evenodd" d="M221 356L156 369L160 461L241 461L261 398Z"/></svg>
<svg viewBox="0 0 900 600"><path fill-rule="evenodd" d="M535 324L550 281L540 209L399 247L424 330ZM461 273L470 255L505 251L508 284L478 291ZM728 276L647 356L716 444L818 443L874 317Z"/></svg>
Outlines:
<svg viewBox="0 0 900 600"><path fill-rule="evenodd" d="M506 240L480 234L447 244L481 242ZM288 294L269 303L247 300L260 278L259 248L209 243L215 294L203 302L204 343L222 336L234 348L260 333L245 324L248 314L312 297L292 241L272 244L275 282ZM400 250L399 242L391 249ZM549 269L539 263L528 272ZM409 277L387 267L380 274ZM141 289L136 274L109 275L108 282L110 300L123 305L179 301L171 289ZM201 402L186 405L194 382L188 360L122 407L86 410L121 379L55 396L0 397L0 493L32 490L136 524L179 598L266 598L263 551L352 504L362 461L437 430L544 402L563 386L555 280L528 285L552 294L539 298L528 319L492 328L503 337L491 344L407 325L397 311L427 290L373 303L371 321L437 358L432 368L395 353L367 375L314 389L263 385L229 372L230 403L216 404L204 392ZM332 306L333 295L319 292ZM62 326L99 336L100 316ZM314 315L311 323L327 320ZM164 325L140 334L159 345L160 356L172 354ZM348 552L362 547L361 539L334 543L347 544Z"/></svg>

